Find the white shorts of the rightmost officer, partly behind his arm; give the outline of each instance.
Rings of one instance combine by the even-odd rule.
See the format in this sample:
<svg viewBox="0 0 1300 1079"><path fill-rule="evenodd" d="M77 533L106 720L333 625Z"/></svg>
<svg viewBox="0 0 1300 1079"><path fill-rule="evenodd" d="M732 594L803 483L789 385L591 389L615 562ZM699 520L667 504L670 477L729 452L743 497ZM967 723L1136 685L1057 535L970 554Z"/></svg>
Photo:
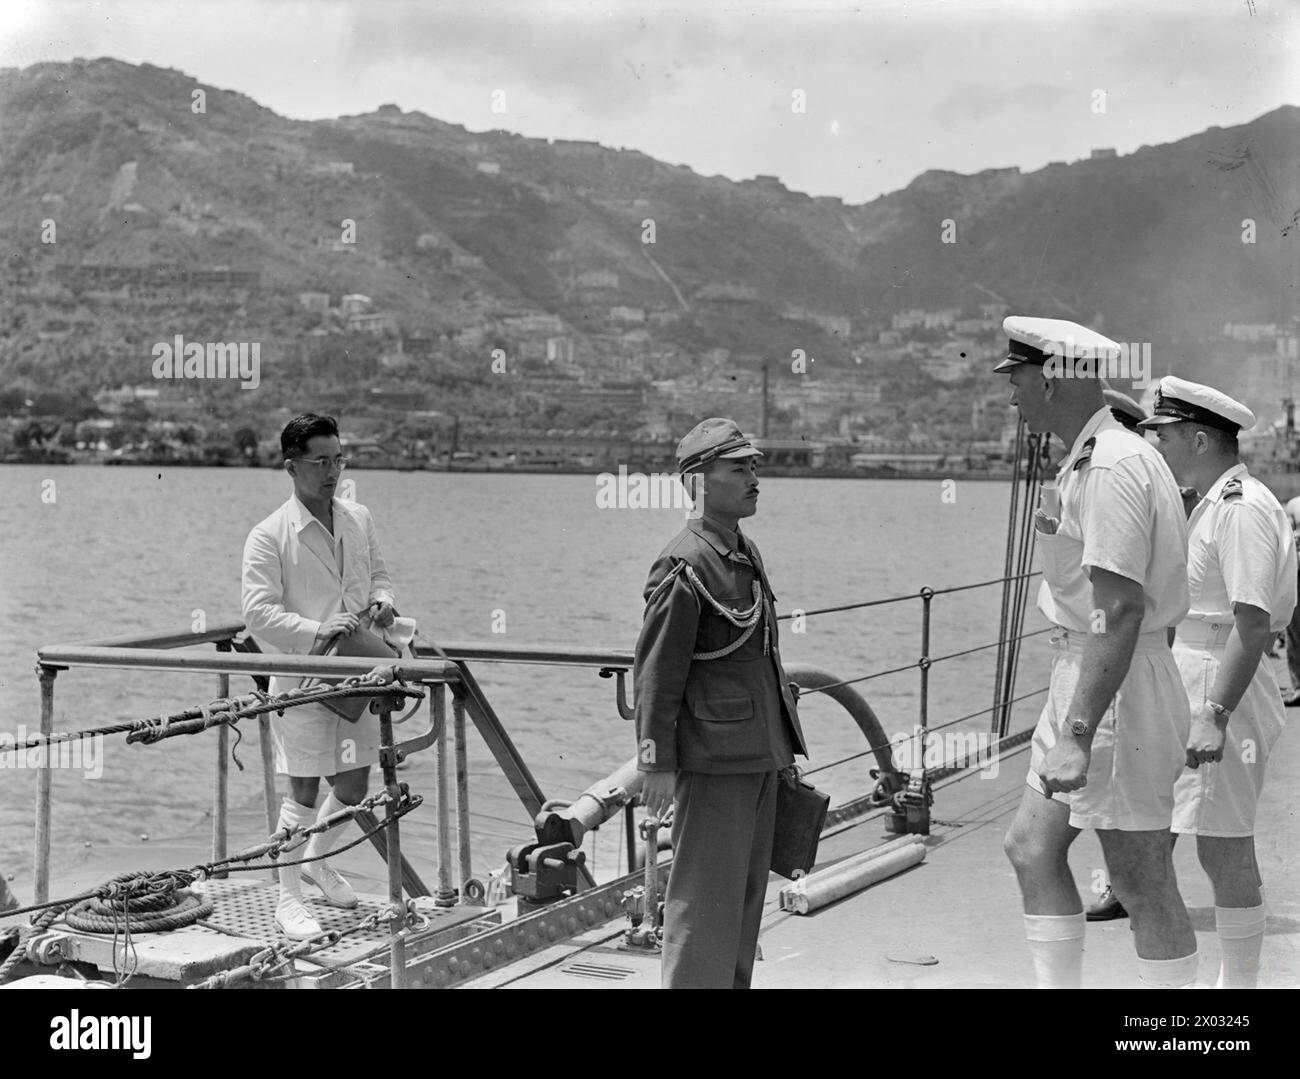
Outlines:
<svg viewBox="0 0 1300 1079"><path fill-rule="evenodd" d="M1193 711L1205 703L1218 677L1232 623L1219 627L1217 632L1205 624L1178 628L1174 660ZM1174 786L1174 831L1193 836L1254 835L1264 768L1284 725L1278 680L1265 656L1228 718L1223 759L1199 768L1183 767Z"/></svg>

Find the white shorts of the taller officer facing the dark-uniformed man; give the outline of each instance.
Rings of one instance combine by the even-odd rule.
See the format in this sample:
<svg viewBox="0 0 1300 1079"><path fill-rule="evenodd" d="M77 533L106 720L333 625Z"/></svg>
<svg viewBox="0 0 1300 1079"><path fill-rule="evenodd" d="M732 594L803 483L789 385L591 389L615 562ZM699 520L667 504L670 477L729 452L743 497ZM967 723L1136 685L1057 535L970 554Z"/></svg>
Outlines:
<svg viewBox="0 0 1300 1079"><path fill-rule="evenodd" d="M1043 790L1039 770L1070 708L1087 634L1057 629L1052 646L1052 685L1034 728L1030 772L1024 781ZM1143 633L1128 673L1092 736L1088 781L1079 790L1057 792L1070 806L1074 828L1150 832L1167 828L1174 815L1174 783L1187 763L1192 719L1178 666L1165 630Z"/></svg>

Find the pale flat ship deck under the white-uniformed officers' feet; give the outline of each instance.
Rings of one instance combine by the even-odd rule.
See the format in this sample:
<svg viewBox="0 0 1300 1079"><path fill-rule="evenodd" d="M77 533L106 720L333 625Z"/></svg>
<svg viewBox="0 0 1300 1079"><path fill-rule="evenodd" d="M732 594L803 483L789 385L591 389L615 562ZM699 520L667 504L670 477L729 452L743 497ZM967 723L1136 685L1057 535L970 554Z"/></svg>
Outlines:
<svg viewBox="0 0 1300 1079"><path fill-rule="evenodd" d="M786 881L768 885L762 959L754 988L1026 988L1034 976L1020 922L1015 875L1002 854L1006 832L1024 790L1028 753L1005 757L998 775L948 781L936 790L935 824L926 861L898 876L810 915L780 910ZM1300 858L1292 792L1300 786L1300 737L1284 732L1269 762L1260 805L1257 853L1268 893L1269 922L1260 968L1261 988L1300 984ZM866 820L823 838L818 868L885 842L883 820ZM1219 949L1214 898L1196 861L1195 844L1174 849L1179 887L1200 948L1199 984L1213 985ZM1080 893L1091 894L1104 866L1096 833L1084 832L1070 854ZM623 926L610 923L549 953L467 983L517 989L653 988L655 954L620 945ZM1138 988L1128 919L1089 923L1086 988Z"/></svg>

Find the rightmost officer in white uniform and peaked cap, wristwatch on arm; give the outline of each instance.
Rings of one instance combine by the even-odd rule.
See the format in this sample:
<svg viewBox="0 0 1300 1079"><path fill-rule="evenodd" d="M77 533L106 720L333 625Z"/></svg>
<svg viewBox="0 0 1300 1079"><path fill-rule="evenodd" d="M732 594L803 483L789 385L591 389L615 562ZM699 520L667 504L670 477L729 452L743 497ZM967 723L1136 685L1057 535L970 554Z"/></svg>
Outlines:
<svg viewBox="0 0 1300 1079"><path fill-rule="evenodd" d="M1254 809L1286 722L1273 664L1261 658L1296 606L1291 523L1242 464L1236 436L1254 426L1254 413L1240 402L1166 377L1143 426L1154 429L1178 481L1205 491L1188 521L1191 610L1174 641L1192 731L1173 831L1196 836L1214 885L1219 988L1254 988L1265 920Z"/></svg>

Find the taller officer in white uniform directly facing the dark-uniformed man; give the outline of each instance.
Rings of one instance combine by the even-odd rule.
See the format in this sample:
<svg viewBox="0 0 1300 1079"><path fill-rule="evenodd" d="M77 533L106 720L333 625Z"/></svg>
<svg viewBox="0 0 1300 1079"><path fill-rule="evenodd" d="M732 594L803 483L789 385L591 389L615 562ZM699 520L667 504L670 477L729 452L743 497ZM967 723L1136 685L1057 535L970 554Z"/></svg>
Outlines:
<svg viewBox="0 0 1300 1079"><path fill-rule="evenodd" d="M1196 979L1196 935L1178 893L1169 826L1191 716L1170 629L1187 614L1187 520L1178 485L1112 415L1097 363L1119 346L1075 322L1009 317L997 365L1031 432L1069 447L1058 506L1036 520L1039 608L1057 625L1028 790L1005 849L1024 897L1037 983L1082 983L1084 914L1067 853L1095 828L1128 907L1139 975ZM1091 359L1091 363L1089 363Z"/></svg>

